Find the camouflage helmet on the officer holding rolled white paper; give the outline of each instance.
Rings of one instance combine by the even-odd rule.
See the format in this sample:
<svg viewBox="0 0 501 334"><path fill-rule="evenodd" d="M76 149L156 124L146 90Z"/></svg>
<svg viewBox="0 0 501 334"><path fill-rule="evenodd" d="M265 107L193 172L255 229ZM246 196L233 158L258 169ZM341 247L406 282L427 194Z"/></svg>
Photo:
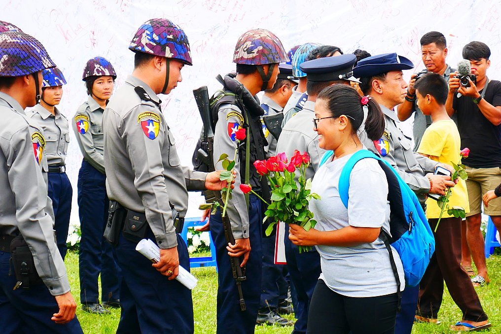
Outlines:
<svg viewBox="0 0 501 334"><path fill-rule="evenodd" d="M186 34L167 19L146 21L132 38L129 50L172 58L186 65L193 65Z"/></svg>

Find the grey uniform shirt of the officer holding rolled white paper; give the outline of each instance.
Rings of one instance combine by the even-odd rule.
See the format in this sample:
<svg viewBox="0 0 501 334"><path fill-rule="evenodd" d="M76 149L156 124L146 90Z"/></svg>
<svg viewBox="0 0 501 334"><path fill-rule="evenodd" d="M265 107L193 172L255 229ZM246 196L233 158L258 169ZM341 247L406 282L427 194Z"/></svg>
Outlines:
<svg viewBox="0 0 501 334"><path fill-rule="evenodd" d="M136 87L142 92L136 93ZM205 173L182 167L161 101L141 80L128 76L103 118L106 192L110 200L145 212L160 248L177 245L170 205L186 214L188 189L204 189Z"/></svg>

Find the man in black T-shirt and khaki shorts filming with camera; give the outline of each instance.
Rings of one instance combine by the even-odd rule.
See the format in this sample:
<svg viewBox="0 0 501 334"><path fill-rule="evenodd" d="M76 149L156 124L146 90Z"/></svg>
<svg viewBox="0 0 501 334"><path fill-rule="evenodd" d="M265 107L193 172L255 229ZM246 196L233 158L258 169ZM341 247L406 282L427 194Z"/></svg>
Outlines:
<svg viewBox="0 0 501 334"><path fill-rule="evenodd" d="M461 148L470 154L462 162L468 179L466 188L470 212L466 215L466 240L478 270L471 279L475 286L489 282L484 257L484 241L480 231L481 200L489 189L501 183L501 82L489 80L490 49L482 42L473 41L463 48L462 56L469 60L471 75L456 72L449 80L446 109L457 115ZM472 80L475 79L476 80ZM501 231L501 199L496 198L484 208L498 231ZM462 265L470 266L463 254Z"/></svg>

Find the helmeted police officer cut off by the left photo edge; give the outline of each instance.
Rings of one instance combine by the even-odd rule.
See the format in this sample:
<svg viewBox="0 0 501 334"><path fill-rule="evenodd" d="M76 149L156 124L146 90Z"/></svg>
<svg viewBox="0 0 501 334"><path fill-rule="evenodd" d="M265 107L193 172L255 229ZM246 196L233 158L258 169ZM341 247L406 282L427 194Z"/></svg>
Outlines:
<svg viewBox="0 0 501 334"><path fill-rule="evenodd" d="M38 103L41 71L55 65L39 41L19 31L0 34L0 53L4 55L0 69L0 328L3 333L82 333L53 233L46 141L24 112ZM23 269L15 258L11 265L11 242L20 242L20 237L29 246L25 254L33 260L34 267L28 270L33 269L43 284L38 277L23 279L18 269L10 272L16 266ZM18 256L21 249L15 249Z"/></svg>

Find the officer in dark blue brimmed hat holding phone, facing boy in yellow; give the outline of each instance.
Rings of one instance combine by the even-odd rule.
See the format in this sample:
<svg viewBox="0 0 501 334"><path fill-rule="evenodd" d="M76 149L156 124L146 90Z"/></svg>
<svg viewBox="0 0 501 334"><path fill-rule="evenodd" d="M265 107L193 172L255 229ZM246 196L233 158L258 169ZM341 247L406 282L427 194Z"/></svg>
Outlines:
<svg viewBox="0 0 501 334"><path fill-rule="evenodd" d="M444 195L446 187L453 187L449 176L433 175L437 165L451 171L452 167L437 164L418 153L412 152L411 139L398 128L399 123L393 108L404 101L407 83L402 70L414 67L412 62L396 53L376 55L362 59L353 72L360 78L360 89L379 103L385 118L385 130L381 139L370 141L361 136L362 143L391 163L402 179L416 193L425 209L427 193ZM410 333L417 306L419 286L406 287L402 292L402 310L397 314L395 333Z"/></svg>

